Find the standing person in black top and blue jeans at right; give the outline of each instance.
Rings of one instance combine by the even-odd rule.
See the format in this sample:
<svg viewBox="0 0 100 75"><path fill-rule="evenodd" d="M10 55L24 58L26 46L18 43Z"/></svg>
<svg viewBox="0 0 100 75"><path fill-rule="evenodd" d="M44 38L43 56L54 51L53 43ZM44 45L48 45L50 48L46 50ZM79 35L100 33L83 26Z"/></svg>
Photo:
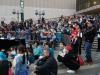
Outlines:
<svg viewBox="0 0 100 75"><path fill-rule="evenodd" d="M86 62L89 64L93 63L91 57L91 48L96 35L96 29L92 24L91 20L86 22L86 29L84 30L84 37L85 37L85 52L86 52Z"/></svg>

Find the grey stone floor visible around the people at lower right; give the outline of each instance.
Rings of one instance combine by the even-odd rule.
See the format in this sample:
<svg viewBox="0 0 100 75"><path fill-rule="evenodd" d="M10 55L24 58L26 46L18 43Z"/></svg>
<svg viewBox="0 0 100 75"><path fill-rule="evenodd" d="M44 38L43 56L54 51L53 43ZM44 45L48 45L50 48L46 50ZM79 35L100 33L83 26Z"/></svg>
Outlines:
<svg viewBox="0 0 100 75"><path fill-rule="evenodd" d="M58 55L58 51L55 51L55 58ZM100 75L100 52L92 51L93 64L81 66L80 69L75 74L68 74L67 68L58 63L58 75ZM82 58L85 59L85 52L82 51ZM30 75L34 74L34 65L30 66Z"/></svg>

